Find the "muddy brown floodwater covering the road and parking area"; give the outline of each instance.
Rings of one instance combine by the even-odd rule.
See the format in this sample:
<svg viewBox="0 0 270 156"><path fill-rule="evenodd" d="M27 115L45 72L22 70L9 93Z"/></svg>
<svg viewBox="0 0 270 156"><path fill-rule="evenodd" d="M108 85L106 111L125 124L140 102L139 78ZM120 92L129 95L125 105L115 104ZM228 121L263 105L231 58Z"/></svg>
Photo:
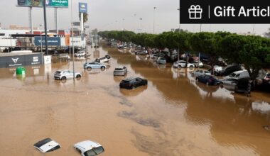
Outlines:
<svg viewBox="0 0 270 156"><path fill-rule="evenodd" d="M90 49L76 59L82 79L55 81L53 72L72 62L27 67L26 77L0 69L0 155L42 155L33 144L53 138L62 145L50 155L80 155L82 140L104 146L102 155L269 155L270 96L247 98L195 82L188 69L156 65L127 51ZM112 56L105 71L85 71L94 57ZM148 79L147 87L119 89L127 74Z"/></svg>

